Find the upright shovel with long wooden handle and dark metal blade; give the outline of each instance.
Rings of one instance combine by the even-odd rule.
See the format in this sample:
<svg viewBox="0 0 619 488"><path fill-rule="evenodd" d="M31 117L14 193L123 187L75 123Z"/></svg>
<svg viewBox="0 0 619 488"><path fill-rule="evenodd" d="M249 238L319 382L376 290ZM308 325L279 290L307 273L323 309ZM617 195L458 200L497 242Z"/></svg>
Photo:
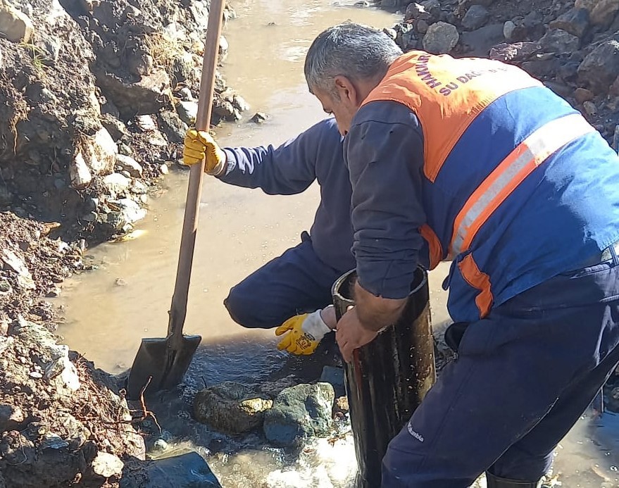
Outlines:
<svg viewBox="0 0 619 488"><path fill-rule="evenodd" d="M211 120L215 69L217 68L224 6L225 0L211 0L196 130L208 130ZM189 279L192 273L194 245L196 243L203 174L204 160L199 164L192 165L189 171L189 187L187 189L185 218L182 223L176 282L172 306L168 312L170 315L168 337L165 337L165 339L142 339L142 344L139 346L127 380L127 396L130 399L139 399L146 387L148 387L149 394L152 394L158 390L170 389L179 384L187 373L189 363L192 362L202 339L199 335L183 335L182 327L187 315L187 295L189 294Z"/></svg>

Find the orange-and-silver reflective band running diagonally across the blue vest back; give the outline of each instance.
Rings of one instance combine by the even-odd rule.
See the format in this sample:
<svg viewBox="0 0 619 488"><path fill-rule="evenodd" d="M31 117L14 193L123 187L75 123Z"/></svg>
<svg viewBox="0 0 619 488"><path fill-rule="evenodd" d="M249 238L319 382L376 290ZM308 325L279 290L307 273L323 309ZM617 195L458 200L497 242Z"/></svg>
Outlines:
<svg viewBox="0 0 619 488"><path fill-rule="evenodd" d="M575 113L542 125L518 144L477 187L458 213L450 255L466 251L496 208L551 154L594 130L580 113Z"/></svg>

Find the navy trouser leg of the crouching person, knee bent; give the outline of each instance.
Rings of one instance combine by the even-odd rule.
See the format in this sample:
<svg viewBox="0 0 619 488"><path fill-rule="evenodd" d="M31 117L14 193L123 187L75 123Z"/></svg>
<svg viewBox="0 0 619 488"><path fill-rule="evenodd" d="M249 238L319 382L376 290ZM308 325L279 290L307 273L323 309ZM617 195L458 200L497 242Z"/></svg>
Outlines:
<svg viewBox="0 0 619 488"><path fill-rule="evenodd" d="M320 261L311 239L269 261L230 290L223 302L232 320L244 327L269 329L298 313L332 303L331 287L347 270Z"/></svg>

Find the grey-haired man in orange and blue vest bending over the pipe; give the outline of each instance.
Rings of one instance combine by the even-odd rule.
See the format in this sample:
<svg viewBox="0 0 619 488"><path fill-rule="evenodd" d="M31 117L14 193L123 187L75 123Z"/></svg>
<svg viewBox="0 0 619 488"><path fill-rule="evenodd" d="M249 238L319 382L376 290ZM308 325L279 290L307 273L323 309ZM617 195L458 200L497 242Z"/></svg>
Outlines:
<svg viewBox="0 0 619 488"><path fill-rule="evenodd" d="M536 487L619 361L619 158L567 102L512 65L402 54L337 25L305 75L344 138L356 306L346 361L394 323L420 251L453 259L446 366L389 444L382 487ZM454 326L452 326L454 327Z"/></svg>

